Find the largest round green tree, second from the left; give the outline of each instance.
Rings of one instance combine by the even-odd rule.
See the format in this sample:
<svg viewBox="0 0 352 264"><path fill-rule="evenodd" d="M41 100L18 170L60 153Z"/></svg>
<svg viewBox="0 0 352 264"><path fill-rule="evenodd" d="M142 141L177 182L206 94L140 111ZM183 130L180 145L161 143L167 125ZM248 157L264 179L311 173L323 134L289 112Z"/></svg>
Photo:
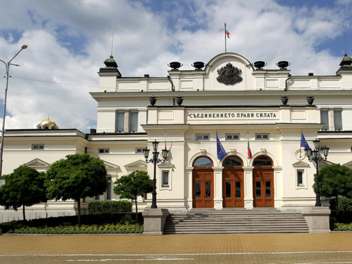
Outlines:
<svg viewBox="0 0 352 264"><path fill-rule="evenodd" d="M67 155L53 162L46 172L48 199L73 199L78 206L81 223L81 199L102 195L107 190L107 169L104 162L88 154Z"/></svg>

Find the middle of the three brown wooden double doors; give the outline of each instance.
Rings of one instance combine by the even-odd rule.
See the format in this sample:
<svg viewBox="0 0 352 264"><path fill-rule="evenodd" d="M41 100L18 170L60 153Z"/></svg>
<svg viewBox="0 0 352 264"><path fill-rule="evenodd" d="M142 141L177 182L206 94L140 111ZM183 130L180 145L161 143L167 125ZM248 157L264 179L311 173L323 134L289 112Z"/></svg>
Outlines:
<svg viewBox="0 0 352 264"><path fill-rule="evenodd" d="M222 171L222 206L224 208L244 207L243 169L224 169Z"/></svg>

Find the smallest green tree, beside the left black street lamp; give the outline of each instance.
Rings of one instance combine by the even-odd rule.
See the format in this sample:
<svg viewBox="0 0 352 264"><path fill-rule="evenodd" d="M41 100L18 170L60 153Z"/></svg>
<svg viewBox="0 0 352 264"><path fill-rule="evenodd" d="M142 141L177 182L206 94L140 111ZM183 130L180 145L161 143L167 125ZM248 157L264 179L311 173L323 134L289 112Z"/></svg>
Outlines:
<svg viewBox="0 0 352 264"><path fill-rule="evenodd" d="M114 193L120 198L135 200L135 220L138 222L137 196L153 191L153 180L147 172L134 171L115 181Z"/></svg>

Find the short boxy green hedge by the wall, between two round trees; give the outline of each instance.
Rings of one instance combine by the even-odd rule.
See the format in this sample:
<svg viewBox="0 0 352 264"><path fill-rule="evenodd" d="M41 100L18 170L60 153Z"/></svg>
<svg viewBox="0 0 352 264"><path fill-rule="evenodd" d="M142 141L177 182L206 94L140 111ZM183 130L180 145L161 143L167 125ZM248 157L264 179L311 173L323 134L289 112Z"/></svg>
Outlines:
<svg viewBox="0 0 352 264"><path fill-rule="evenodd" d="M87 206L87 214L113 214L128 213L132 211L132 202L119 201L90 201Z"/></svg>

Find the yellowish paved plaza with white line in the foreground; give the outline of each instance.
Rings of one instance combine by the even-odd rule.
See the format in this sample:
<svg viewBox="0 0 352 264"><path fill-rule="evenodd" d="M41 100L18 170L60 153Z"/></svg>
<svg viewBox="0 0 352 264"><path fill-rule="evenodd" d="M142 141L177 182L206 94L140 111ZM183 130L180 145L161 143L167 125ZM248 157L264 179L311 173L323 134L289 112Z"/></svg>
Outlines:
<svg viewBox="0 0 352 264"><path fill-rule="evenodd" d="M352 232L3 235L0 263L352 263Z"/></svg>

